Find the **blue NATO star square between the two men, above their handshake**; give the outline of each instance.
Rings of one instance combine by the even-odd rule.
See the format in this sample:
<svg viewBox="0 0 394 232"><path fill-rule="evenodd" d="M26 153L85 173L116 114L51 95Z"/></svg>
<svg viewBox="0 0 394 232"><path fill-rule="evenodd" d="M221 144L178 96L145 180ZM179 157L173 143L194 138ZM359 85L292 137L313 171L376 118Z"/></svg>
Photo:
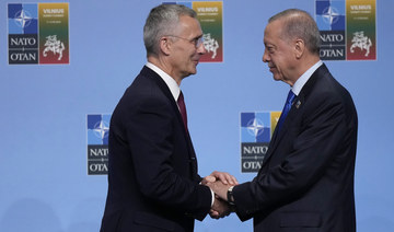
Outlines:
<svg viewBox="0 0 394 232"><path fill-rule="evenodd" d="M241 142L269 142L270 113L241 113Z"/></svg>

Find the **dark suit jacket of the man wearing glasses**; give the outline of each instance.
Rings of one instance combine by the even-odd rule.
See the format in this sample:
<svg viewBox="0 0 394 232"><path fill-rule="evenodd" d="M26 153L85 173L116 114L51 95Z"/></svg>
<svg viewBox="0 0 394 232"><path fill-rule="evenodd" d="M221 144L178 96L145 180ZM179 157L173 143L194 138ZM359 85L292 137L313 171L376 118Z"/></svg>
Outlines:
<svg viewBox="0 0 394 232"><path fill-rule="evenodd" d="M143 67L112 115L101 231L193 231L212 198L200 181L176 102L165 82Z"/></svg>

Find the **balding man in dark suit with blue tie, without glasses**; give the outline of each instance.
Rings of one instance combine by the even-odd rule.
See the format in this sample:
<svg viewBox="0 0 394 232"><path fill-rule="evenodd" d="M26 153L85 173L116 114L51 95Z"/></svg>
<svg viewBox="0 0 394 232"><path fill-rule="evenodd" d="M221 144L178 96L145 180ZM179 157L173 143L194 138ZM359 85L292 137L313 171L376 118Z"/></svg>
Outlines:
<svg viewBox="0 0 394 232"><path fill-rule="evenodd" d="M356 231L357 112L348 91L320 60L320 33L304 11L274 15L263 61L291 86L257 176L234 187L210 184L254 231ZM287 116L286 116L287 114Z"/></svg>

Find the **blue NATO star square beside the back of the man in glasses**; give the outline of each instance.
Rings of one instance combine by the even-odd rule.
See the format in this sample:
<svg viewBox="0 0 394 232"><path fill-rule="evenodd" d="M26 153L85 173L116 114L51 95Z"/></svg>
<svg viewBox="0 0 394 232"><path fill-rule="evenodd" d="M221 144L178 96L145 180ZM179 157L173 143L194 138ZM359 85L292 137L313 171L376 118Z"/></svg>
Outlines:
<svg viewBox="0 0 394 232"><path fill-rule="evenodd" d="M111 115L88 115L88 143L108 144Z"/></svg>

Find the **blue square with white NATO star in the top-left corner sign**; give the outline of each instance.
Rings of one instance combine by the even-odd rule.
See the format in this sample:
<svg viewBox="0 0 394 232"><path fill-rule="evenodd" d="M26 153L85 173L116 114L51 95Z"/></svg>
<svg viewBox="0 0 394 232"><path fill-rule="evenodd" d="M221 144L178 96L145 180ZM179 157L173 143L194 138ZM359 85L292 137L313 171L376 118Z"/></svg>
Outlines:
<svg viewBox="0 0 394 232"><path fill-rule="evenodd" d="M8 5L9 34L37 34L38 10L33 3Z"/></svg>

